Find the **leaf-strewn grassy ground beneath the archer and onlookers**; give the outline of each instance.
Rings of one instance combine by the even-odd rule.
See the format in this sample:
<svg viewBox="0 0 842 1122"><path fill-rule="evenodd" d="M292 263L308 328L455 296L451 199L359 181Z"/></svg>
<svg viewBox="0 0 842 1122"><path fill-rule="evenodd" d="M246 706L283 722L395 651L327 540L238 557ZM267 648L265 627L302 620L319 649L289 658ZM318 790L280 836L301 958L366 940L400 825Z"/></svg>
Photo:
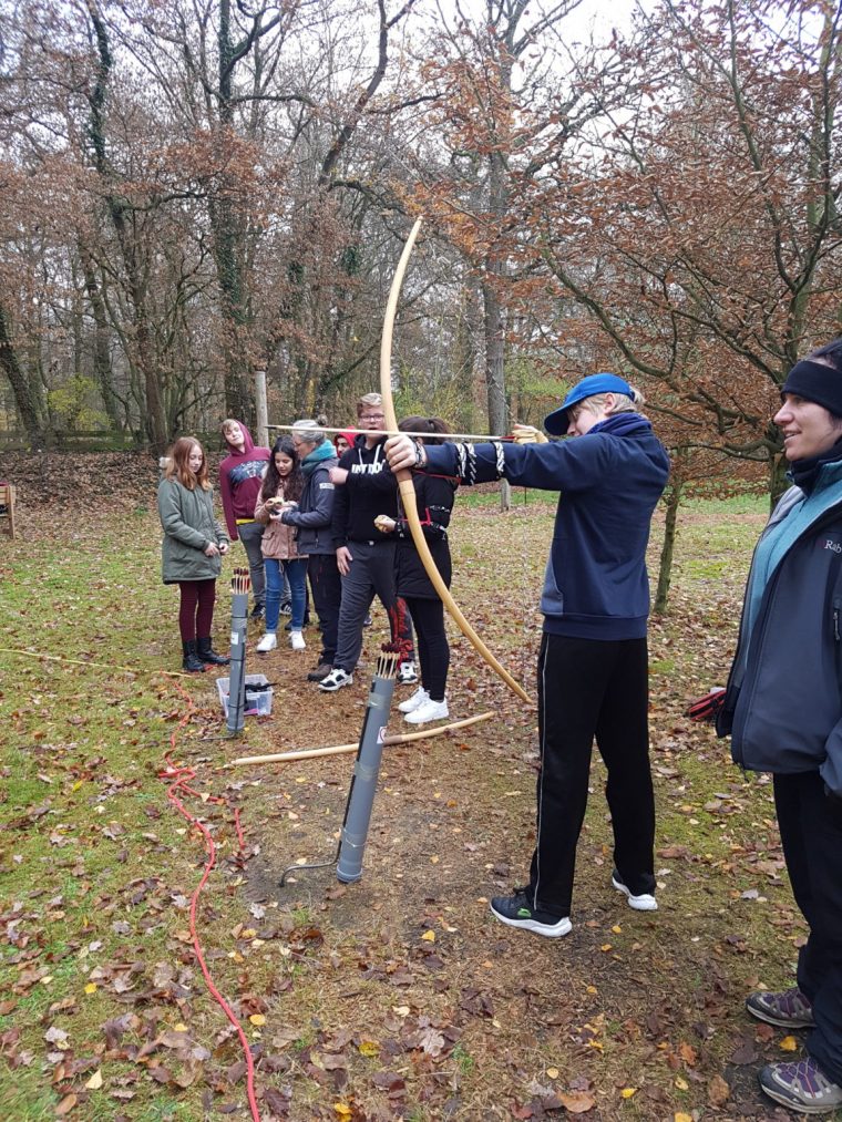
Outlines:
<svg viewBox="0 0 842 1122"><path fill-rule="evenodd" d="M652 620L659 911L611 888L596 757L574 929L548 940L488 912L533 845L534 710L451 632L450 719L494 719L384 749L359 883L301 868L333 857L354 756L226 764L355 742L383 613L336 695L304 680L314 627L304 653L266 656L253 628L247 670L275 683L273 712L228 739L212 673L161 674L180 651L156 473L112 459L19 458L18 478L0 463L22 530L0 552L0 1116L251 1116L240 1036L191 934L205 847L167 799L167 761L191 770L185 804L216 846L195 929L264 1122L793 1116L756 1074L802 1040L743 1009L751 988L791 984L805 936L770 783L683 716L726 672L763 498L687 505L670 613ZM550 502L501 515L467 494L452 524L457 601L530 693L551 525ZM221 649L241 560L236 546L218 585Z"/></svg>

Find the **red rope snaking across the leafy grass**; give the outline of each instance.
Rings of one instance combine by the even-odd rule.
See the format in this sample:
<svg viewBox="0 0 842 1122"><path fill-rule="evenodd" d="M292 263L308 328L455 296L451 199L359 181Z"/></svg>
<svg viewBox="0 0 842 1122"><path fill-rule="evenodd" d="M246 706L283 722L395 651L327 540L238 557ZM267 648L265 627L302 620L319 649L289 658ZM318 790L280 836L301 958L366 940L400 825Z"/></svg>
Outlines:
<svg viewBox="0 0 842 1122"><path fill-rule="evenodd" d="M196 791L195 788L190 787L190 780L195 779L195 770L193 767L184 766L183 764L174 764L170 758L171 754L175 752L175 743L180 729L182 729L187 724L190 718L195 712L195 706L193 705L193 700L186 692L186 690L182 689L179 682L174 682L173 684L175 686L176 690L181 693L181 696L184 698L184 700L187 702L187 708L183 714L183 716L180 717L179 723L175 726L172 736L170 737L170 749L164 753L166 767L162 772L159 772L158 775L161 779L172 780L172 783L167 787L166 797L176 808L179 813L182 815L184 818L186 818L186 820L192 826L195 826L195 828L200 831L202 838L204 839L205 853L208 854L208 861L205 862L204 865L204 872L202 873L202 879L196 885L193 895L190 898L190 936L193 941L193 951L195 954L196 962L199 963L199 966L204 976L208 990L210 991L211 996L216 1000L217 1004L221 1008L222 1012L226 1014L228 1020L237 1030L237 1036L239 1037L240 1045L242 1047L242 1055L246 1058L246 1092L248 1095L248 1105L251 1111L251 1119L253 1122L260 1122L260 1111L257 1106L257 1096L255 1094L255 1061L254 1057L251 1056L251 1048L249 1047L248 1038L246 1037L242 1026L237 1020L234 1010L213 984L213 980L210 976L210 971L208 969L208 964L204 960L204 954L202 953L202 945L199 941L199 931L196 928L196 911L199 908L199 896L202 892L202 889L208 883L208 879L217 863L217 847L213 842L213 838L211 837L210 830L202 822L199 821L195 815L192 815L187 810L187 808L184 806L182 800L179 798L179 794L176 793L181 792L182 794L193 795L199 799L202 798L202 793L200 791ZM207 795L204 801L216 802L222 807L229 806L227 799L223 799L220 795L216 794ZM234 809L234 825L237 830L237 838L239 840L240 853L242 853L246 846L246 839L242 834L242 828L240 826L239 809L237 807L234 807L232 809Z"/></svg>

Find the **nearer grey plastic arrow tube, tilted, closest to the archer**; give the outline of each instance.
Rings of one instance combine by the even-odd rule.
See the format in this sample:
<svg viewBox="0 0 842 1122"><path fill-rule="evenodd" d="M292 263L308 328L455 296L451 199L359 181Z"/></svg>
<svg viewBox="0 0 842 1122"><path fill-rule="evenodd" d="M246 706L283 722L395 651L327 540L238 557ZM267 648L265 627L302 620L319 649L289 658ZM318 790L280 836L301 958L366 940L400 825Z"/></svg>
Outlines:
<svg viewBox="0 0 842 1122"><path fill-rule="evenodd" d="M368 825L372 820L374 795L377 790L383 737L388 723L394 678L372 679L372 688L366 702L365 720L359 737L359 748L354 764L348 807L339 842L339 862L336 875L344 884L351 884L363 876Z"/></svg>

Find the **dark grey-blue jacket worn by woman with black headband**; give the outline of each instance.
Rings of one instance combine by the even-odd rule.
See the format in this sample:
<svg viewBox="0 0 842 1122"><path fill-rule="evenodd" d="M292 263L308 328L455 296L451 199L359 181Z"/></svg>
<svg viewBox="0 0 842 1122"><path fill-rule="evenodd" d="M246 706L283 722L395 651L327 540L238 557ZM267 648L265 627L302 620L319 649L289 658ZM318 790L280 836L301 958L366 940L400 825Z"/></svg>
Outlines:
<svg viewBox="0 0 842 1122"><path fill-rule="evenodd" d="M742 767L818 771L842 797L840 461L809 495L790 487L760 536L716 732Z"/></svg>

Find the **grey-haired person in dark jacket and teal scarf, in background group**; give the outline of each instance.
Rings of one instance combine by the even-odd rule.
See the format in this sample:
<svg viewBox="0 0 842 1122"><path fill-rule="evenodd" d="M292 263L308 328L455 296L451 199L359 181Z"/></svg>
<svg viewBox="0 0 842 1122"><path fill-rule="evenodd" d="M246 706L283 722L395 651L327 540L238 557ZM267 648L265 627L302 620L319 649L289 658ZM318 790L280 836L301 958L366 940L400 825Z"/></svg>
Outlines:
<svg viewBox="0 0 842 1122"><path fill-rule="evenodd" d="M315 421L296 421L292 440L301 461L304 489L298 507L284 507L281 522L298 530L298 549L306 555L306 574L313 607L321 625L321 654L308 681L320 682L333 669L339 605L342 585L336 563L330 523L333 517L333 485L330 469L337 465L336 449Z"/></svg>

